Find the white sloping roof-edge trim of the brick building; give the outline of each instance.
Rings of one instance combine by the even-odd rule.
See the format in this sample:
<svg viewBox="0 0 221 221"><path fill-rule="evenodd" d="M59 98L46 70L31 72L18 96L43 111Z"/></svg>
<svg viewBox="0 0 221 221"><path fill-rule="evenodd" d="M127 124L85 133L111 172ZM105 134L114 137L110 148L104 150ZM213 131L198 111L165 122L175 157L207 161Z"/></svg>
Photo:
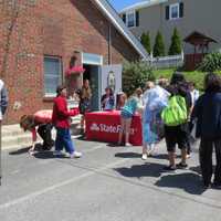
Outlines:
<svg viewBox="0 0 221 221"><path fill-rule="evenodd" d="M109 19L113 25L125 36L125 39L134 46L134 49L145 60L148 59L148 53L136 36L128 30L126 24L123 22L119 14L106 0L91 0L103 11L103 13Z"/></svg>

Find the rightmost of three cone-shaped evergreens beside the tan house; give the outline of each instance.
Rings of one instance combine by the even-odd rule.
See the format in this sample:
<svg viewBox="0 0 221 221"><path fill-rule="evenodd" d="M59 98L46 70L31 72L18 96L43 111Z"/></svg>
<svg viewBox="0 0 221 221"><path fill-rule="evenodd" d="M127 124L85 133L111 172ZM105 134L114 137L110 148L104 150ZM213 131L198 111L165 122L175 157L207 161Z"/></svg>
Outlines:
<svg viewBox="0 0 221 221"><path fill-rule="evenodd" d="M179 35L179 32L177 28L173 29L173 33L171 36L171 45L169 48L169 55L177 55L181 54L182 48L181 48L181 39Z"/></svg>

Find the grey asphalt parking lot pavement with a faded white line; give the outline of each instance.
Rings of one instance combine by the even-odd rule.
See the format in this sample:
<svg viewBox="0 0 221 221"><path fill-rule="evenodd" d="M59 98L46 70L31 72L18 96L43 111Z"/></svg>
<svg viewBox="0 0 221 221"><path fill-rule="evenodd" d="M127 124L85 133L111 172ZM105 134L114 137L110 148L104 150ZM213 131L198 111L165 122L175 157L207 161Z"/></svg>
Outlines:
<svg viewBox="0 0 221 221"><path fill-rule="evenodd" d="M165 172L164 141L146 161L140 147L74 143L81 159L3 151L1 221L221 220L221 190L202 188L197 146L188 169Z"/></svg>

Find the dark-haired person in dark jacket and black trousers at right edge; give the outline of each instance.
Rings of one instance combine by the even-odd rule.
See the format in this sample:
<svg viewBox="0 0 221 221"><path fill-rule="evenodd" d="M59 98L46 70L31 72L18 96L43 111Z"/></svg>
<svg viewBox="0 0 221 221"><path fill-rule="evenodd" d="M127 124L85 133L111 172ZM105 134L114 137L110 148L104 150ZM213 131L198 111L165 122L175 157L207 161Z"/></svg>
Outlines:
<svg viewBox="0 0 221 221"><path fill-rule="evenodd" d="M221 188L221 78L210 73L204 77L206 93L197 101L191 119L197 118L197 137L200 137L200 167L203 185L210 187L212 178L212 150L217 166L213 185Z"/></svg>

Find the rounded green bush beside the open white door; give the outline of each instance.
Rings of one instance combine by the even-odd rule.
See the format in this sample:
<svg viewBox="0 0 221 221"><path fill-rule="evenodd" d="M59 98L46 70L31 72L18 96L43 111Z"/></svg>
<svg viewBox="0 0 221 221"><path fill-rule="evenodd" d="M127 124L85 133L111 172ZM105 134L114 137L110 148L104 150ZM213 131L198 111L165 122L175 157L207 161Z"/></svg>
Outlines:
<svg viewBox="0 0 221 221"><path fill-rule="evenodd" d="M137 87L145 87L147 81L155 81L152 69L147 62L124 62L123 91L130 95Z"/></svg>

